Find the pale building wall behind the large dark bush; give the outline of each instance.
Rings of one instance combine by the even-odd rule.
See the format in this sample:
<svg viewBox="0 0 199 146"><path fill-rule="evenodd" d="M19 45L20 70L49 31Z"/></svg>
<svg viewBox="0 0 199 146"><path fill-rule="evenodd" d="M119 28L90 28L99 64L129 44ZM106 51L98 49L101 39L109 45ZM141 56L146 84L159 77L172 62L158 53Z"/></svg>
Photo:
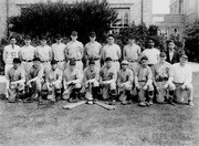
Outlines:
<svg viewBox="0 0 199 146"><path fill-rule="evenodd" d="M74 2L76 0L0 0L0 38L8 34L7 20L11 15L20 13L22 8L35 2ZM81 0L77 0L81 1ZM145 22L147 25L153 21L153 0L107 0L109 7L118 12L119 22L112 24L117 31L133 21L138 24Z"/></svg>

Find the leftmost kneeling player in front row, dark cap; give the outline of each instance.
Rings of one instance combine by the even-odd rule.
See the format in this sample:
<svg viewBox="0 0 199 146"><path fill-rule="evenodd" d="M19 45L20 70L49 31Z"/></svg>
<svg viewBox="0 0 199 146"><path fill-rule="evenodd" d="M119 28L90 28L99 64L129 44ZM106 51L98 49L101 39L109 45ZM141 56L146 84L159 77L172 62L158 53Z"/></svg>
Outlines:
<svg viewBox="0 0 199 146"><path fill-rule="evenodd" d="M17 98L24 95L24 71L20 67L21 61L18 58L13 59L13 66L8 70L8 100L10 103L14 103Z"/></svg>

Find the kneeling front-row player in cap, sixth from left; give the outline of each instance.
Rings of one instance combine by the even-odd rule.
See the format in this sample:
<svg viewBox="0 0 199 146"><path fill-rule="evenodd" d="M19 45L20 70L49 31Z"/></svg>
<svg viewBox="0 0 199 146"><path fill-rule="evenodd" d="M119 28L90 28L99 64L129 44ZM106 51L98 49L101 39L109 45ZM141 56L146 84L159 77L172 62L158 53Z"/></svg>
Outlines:
<svg viewBox="0 0 199 146"><path fill-rule="evenodd" d="M112 59L106 58L105 64L100 71L100 84L103 91L103 100L109 100L108 104L116 104L117 91L116 91L117 71L112 64Z"/></svg>

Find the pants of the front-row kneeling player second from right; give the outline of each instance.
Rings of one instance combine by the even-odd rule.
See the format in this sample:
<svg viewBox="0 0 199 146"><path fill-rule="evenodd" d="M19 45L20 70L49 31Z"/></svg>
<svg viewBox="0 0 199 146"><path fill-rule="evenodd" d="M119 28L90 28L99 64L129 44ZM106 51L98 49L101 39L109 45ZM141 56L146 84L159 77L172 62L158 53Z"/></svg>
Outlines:
<svg viewBox="0 0 199 146"><path fill-rule="evenodd" d="M167 81L157 82L157 86L159 87L159 92L156 93L156 101L158 103L163 103L165 101L165 96L168 97L167 91L175 91L176 86L174 83L169 83L168 88L163 88Z"/></svg>

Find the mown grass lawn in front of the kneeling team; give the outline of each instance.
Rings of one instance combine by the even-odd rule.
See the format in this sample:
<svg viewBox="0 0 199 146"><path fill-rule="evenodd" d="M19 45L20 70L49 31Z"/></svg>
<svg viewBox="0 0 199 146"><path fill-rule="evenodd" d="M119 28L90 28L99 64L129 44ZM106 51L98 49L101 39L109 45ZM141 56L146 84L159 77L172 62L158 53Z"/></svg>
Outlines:
<svg viewBox="0 0 199 146"><path fill-rule="evenodd" d="M2 146L199 146L199 73L195 106L97 105L62 109L66 102L36 105L0 101Z"/></svg>

